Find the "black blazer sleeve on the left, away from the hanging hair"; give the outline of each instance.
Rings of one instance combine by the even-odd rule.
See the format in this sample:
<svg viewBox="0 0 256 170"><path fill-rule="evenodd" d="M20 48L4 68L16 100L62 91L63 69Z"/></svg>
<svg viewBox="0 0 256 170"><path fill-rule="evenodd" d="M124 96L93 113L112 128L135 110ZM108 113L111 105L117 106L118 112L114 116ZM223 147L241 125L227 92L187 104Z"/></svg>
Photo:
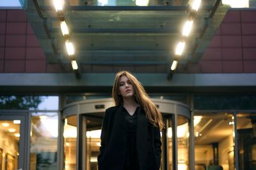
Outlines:
<svg viewBox="0 0 256 170"><path fill-rule="evenodd" d="M104 118L102 120L102 127L101 127L101 134L100 134L100 154L98 155L98 164L100 164L102 160L102 155L104 154L104 149L106 146L106 140L107 140L107 132L108 132L108 117L109 117L109 111L105 111Z"/></svg>

